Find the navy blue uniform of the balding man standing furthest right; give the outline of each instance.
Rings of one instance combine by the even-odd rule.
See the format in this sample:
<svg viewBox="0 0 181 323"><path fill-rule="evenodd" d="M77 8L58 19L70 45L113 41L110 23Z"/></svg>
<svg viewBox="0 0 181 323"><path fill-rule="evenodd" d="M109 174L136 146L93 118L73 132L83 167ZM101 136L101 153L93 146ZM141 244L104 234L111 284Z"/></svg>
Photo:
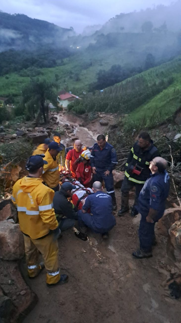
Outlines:
<svg viewBox="0 0 181 323"><path fill-rule="evenodd" d="M164 214L169 189L170 178L168 173L166 171L164 173L157 172L148 178L139 194L138 208L141 213L141 221L138 234L140 249L145 252L150 252L152 249L155 223ZM149 223L146 220L150 208L157 210L157 215L153 219L154 223Z"/></svg>

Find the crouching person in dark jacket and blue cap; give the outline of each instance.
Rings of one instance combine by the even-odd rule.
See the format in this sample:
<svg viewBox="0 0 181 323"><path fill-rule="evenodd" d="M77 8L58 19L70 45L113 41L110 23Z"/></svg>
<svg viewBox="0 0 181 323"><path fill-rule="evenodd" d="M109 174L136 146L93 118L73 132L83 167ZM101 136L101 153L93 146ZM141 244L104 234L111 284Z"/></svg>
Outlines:
<svg viewBox="0 0 181 323"><path fill-rule="evenodd" d="M61 231L72 228L75 225L75 220L78 220L74 205L68 201L73 189L76 189L75 185L70 182L64 182L60 191L55 192L53 197L53 207Z"/></svg>

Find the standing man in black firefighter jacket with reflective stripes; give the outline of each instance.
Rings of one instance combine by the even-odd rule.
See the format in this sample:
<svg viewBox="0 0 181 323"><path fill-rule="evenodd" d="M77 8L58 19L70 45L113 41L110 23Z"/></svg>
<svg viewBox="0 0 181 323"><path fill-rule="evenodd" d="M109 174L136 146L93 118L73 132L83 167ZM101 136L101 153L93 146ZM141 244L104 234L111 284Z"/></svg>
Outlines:
<svg viewBox="0 0 181 323"><path fill-rule="evenodd" d="M131 148L126 162L125 178L121 186L121 209L118 215L121 216L129 211L129 191L135 186L135 201L132 207L131 216L138 214L138 196L144 183L150 176L149 163L160 156L158 149L154 146L148 132L141 132L138 141Z"/></svg>

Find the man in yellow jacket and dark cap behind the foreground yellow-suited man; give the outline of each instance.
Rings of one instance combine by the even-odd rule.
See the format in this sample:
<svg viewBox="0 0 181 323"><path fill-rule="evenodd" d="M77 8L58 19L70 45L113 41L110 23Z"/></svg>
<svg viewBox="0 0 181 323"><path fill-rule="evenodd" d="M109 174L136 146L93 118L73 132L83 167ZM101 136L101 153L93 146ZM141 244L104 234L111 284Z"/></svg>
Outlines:
<svg viewBox="0 0 181 323"><path fill-rule="evenodd" d="M57 142L52 141L45 152L44 160L47 161L43 169L42 178L48 187L52 188L54 192L59 190L59 166L56 156L62 150Z"/></svg>

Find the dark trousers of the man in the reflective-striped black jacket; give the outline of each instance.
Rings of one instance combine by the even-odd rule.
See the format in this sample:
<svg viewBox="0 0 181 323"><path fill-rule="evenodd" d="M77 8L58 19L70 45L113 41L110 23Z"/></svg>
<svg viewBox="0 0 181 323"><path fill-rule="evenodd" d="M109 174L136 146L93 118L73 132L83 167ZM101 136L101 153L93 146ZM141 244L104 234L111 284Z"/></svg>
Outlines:
<svg viewBox="0 0 181 323"><path fill-rule="evenodd" d="M138 196L141 192L144 184L137 184L129 181L128 177L125 176L121 186L121 206L129 207L129 191L135 186L135 201L133 207L138 211Z"/></svg>

